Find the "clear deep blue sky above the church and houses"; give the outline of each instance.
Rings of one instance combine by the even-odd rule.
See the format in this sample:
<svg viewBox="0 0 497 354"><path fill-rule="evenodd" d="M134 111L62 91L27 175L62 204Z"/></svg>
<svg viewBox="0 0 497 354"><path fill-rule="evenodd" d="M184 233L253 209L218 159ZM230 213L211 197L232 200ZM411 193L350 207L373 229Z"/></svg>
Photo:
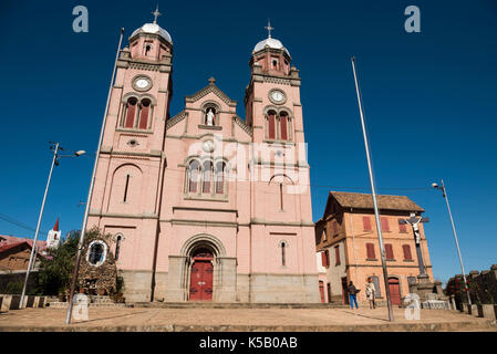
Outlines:
<svg viewBox="0 0 497 354"><path fill-rule="evenodd" d="M72 31L86 6L90 31ZM3 1L0 217L34 228L49 173L49 140L86 157L62 159L42 230L56 217L80 229L121 27L151 22L155 1ZM404 9L421 9L421 33L404 31ZM172 115L215 76L239 103L253 45L273 37L302 77L314 220L328 190L370 191L350 56L355 55L381 194L407 195L431 218L435 278L460 273L441 194L444 178L466 270L497 263L497 3L479 1L159 1L174 41ZM33 232L0 218L0 235ZM44 238L44 236L41 236Z"/></svg>

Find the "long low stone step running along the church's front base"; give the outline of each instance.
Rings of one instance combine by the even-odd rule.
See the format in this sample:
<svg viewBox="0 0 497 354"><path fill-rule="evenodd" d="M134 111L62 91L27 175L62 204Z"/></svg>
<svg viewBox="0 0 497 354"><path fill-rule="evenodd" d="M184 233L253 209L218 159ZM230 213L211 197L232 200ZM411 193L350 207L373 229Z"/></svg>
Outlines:
<svg viewBox="0 0 497 354"><path fill-rule="evenodd" d="M135 302L128 305L156 309L349 309L349 305L342 303L221 303L211 301Z"/></svg>

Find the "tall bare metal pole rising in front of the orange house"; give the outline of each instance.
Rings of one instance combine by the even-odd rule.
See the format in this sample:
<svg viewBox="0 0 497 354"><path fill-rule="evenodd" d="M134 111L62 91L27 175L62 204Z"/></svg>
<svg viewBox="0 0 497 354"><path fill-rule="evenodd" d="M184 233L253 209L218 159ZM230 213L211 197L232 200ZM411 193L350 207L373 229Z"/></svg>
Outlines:
<svg viewBox="0 0 497 354"><path fill-rule="evenodd" d="M385 252L384 252L384 248L383 248L382 228L380 225L380 214L377 210L376 186L374 184L373 168L371 166L370 144L367 142L367 132L366 132L366 127L365 127L365 123L364 123L364 113L362 110L361 91L359 88L359 80L358 80L358 74L355 72L355 59L352 56L351 60L352 60L352 70L354 72L355 92L358 93L359 113L361 115L362 134L364 136L364 147L366 150L367 168L370 170L370 181L371 181L371 190L373 194L374 216L376 218L376 229L377 229L377 239L380 242L380 253L381 253L381 259L382 259L383 279L385 281L385 293L386 293L386 305L389 308L389 320L393 321L394 319L393 319L393 311L392 311L392 302L390 300L390 289L389 289L389 273L386 271L386 261L385 261Z"/></svg>

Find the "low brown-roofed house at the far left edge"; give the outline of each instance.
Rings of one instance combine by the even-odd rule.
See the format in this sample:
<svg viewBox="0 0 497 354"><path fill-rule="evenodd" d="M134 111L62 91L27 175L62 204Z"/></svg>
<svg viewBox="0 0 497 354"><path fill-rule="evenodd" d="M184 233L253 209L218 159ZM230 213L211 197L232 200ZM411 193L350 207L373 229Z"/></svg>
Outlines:
<svg viewBox="0 0 497 354"><path fill-rule="evenodd" d="M32 247L33 240L0 235L0 271L27 270ZM37 259L44 257L45 250L46 242L37 241Z"/></svg>

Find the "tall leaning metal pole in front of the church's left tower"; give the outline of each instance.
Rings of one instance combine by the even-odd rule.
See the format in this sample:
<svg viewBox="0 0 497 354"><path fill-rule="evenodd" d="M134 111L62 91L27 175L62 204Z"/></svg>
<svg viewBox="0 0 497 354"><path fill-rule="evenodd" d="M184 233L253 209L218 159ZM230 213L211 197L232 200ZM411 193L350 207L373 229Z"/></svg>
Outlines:
<svg viewBox="0 0 497 354"><path fill-rule="evenodd" d="M103 140L104 131L105 131L105 123L107 121L108 103L110 103L110 100L111 100L112 87L114 85L115 69L117 66L117 59L120 56L121 42L123 41L123 33L124 33L124 29L122 28L121 29L121 35L120 35L120 43L117 45L117 52L115 53L114 69L112 70L111 84L108 86L107 102L105 104L104 117L103 117L103 121L102 121L102 127L100 129L99 145L96 147L95 163L93 165L92 179L90 181L90 189L89 189L89 195L87 195L87 198L86 198L86 205L85 205L85 209L84 209L83 223L81 226L80 241L77 243L76 261L75 261L75 264L74 264L74 272L73 272L72 282L71 282L71 292L70 292L70 298L69 298L68 313L65 315L65 324L70 324L71 323L74 290L76 288L77 272L80 270L80 262L81 262L81 251L83 249L84 233L86 232L86 221L87 221L87 217L89 217L90 205L92 204L92 194L93 194L93 186L95 184L96 166L99 165L100 150L101 150L101 147L102 147L102 140Z"/></svg>

